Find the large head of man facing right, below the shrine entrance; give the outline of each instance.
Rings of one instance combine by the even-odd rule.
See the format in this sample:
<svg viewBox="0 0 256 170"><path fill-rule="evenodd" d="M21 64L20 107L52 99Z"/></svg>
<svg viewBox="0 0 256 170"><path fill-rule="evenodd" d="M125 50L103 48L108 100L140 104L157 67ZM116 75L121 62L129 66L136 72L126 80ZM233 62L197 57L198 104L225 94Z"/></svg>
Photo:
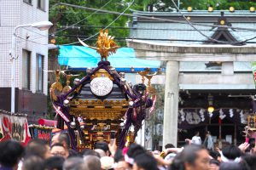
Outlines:
<svg viewBox="0 0 256 170"><path fill-rule="evenodd" d="M209 161L208 151L201 145L192 144L173 158L170 169L208 170Z"/></svg>

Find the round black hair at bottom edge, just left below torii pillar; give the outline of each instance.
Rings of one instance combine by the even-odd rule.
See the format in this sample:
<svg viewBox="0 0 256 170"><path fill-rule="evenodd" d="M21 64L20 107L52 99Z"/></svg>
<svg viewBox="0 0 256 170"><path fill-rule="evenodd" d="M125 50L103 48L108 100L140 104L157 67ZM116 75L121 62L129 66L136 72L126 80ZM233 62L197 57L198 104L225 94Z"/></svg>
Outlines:
<svg viewBox="0 0 256 170"><path fill-rule="evenodd" d="M134 161L137 164L137 167L141 167L144 170L158 170L157 161L149 154L140 154L135 157Z"/></svg>

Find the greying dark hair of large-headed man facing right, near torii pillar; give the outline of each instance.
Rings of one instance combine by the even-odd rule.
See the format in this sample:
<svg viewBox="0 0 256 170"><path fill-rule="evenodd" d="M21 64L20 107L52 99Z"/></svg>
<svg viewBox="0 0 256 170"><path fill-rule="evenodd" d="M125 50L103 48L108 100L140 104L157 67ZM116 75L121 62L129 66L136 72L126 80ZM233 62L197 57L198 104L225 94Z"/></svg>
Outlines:
<svg viewBox="0 0 256 170"><path fill-rule="evenodd" d="M187 162L191 165L195 164L195 160L198 157L197 152L200 150L206 150L202 145L191 144L185 146L182 152L178 153L172 160L172 164L169 170L183 170L185 169L184 163Z"/></svg>

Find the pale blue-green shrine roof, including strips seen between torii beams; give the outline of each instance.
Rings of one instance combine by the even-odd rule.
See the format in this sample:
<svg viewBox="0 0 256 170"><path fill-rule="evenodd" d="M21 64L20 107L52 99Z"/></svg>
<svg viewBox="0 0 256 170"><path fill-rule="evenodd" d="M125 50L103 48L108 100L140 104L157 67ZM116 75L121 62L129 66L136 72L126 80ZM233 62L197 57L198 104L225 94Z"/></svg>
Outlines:
<svg viewBox="0 0 256 170"><path fill-rule="evenodd" d="M218 17L221 16L222 11L215 10L212 13L207 10L193 12L182 11L185 16L191 17L191 22L197 17L196 22L205 25L213 25L218 23ZM183 20L181 15L177 12L160 13L160 12L141 12L133 11L133 14L150 16L154 18L164 18L166 20ZM230 13L230 11L224 11L224 17L230 22L231 26L240 28L253 28L256 29L256 13L250 13L248 10L236 11ZM204 18L204 19L203 19ZM206 19L207 18L207 19ZM147 20L141 18L137 20L137 17L133 17L131 26L133 29L130 31L131 38L142 38L148 39L148 41L154 42L172 42L172 43L204 43L208 40L207 37L212 37L218 27L210 26L195 26L196 29L200 30L207 37L201 35L189 24L180 24L174 22L164 22ZM183 20L185 21L185 20ZM230 31L232 37L235 37L237 41L244 41L248 38L255 37L255 31L238 30L238 29L227 29ZM180 40L180 41L177 41ZM248 42L256 42L256 39ZM234 62L234 71L250 71L250 62ZM180 71L207 71L204 62L180 62ZM218 70L220 71L220 70Z"/></svg>

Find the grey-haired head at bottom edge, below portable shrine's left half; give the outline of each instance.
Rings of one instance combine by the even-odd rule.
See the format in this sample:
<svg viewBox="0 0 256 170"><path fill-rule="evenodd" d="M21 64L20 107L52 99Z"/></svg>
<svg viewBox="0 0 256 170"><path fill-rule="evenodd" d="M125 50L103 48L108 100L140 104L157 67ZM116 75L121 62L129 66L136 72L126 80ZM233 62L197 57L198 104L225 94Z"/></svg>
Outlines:
<svg viewBox="0 0 256 170"><path fill-rule="evenodd" d="M82 170L88 169L81 157L68 158L63 164L63 170Z"/></svg>

